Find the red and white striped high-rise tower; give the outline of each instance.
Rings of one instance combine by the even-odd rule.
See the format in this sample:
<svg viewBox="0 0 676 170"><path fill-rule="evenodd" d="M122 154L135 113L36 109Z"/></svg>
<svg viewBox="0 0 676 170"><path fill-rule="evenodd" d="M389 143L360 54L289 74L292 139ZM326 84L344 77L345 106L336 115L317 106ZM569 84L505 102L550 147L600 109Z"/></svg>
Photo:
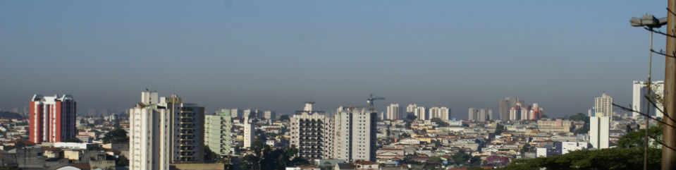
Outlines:
<svg viewBox="0 0 676 170"><path fill-rule="evenodd" d="M33 95L29 104L28 139L31 142L61 142L75 138L75 100L70 95Z"/></svg>

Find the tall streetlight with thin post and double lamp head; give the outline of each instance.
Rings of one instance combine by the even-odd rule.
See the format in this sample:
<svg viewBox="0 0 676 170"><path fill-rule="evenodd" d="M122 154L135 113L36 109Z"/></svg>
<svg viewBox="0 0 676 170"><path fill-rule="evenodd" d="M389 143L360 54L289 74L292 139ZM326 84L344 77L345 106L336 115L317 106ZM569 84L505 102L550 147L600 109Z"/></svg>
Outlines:
<svg viewBox="0 0 676 170"><path fill-rule="evenodd" d="M632 24L634 27L643 27L646 28L646 30L649 30L650 32L650 49L649 49L649 54L648 54L648 99L651 99L651 93L653 92L651 90L651 85L653 82L650 80L650 75L652 69L652 63L653 63L653 28L660 28L662 25L667 24L667 18L655 18L653 15L643 15L641 18L634 18L632 17L629 19L629 23ZM644 158L643 158L643 169L648 170L648 128L649 128L649 117L650 116L650 104L646 104L646 142L645 142L645 147L644 147Z"/></svg>

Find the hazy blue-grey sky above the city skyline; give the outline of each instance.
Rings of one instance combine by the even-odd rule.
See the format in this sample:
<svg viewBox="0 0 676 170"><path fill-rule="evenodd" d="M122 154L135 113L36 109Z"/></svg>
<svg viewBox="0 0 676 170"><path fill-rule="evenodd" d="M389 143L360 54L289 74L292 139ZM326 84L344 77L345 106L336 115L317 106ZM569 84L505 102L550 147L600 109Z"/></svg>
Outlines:
<svg viewBox="0 0 676 170"><path fill-rule="evenodd" d="M146 88L208 112L386 104L498 112L519 97L560 117L602 92L629 106L667 1L0 0L0 109L69 94L128 109ZM661 30L664 30L662 28ZM653 49L665 39L654 35ZM664 57L653 55L653 80ZM618 110L618 109L616 109ZM618 114L628 114L617 111Z"/></svg>

